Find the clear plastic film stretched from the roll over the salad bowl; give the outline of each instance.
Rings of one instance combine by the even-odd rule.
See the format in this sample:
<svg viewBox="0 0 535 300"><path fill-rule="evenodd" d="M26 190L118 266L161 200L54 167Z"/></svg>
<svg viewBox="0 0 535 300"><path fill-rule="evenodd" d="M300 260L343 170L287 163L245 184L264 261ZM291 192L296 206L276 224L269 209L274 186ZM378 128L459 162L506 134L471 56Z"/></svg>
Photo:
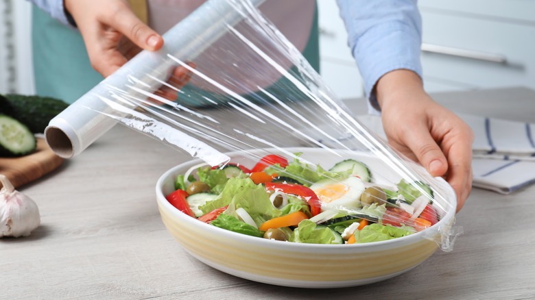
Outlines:
<svg viewBox="0 0 535 300"><path fill-rule="evenodd" d="M220 202L190 203L195 216L221 205L265 232L265 223L292 214L301 201L309 221L333 229L347 240L342 243L420 234L450 251L460 233L453 227L451 187L357 122L255 8L260 2L217 1L210 8L210 22L219 22L216 35L206 30L195 36L188 44L195 51L140 53L134 60L146 60L145 67L121 68L88 93L91 99L77 106L77 114L105 116L198 158L177 187L193 194L189 188L196 184L201 192L219 193ZM166 45L188 34L171 29ZM176 99L167 99L169 92ZM263 184L270 213L232 197L224 203L225 184L237 179ZM365 230L366 224L382 227ZM387 225L395 229L383 230ZM292 232L297 224L283 227L287 238L299 240ZM306 230L300 229L300 239Z"/></svg>

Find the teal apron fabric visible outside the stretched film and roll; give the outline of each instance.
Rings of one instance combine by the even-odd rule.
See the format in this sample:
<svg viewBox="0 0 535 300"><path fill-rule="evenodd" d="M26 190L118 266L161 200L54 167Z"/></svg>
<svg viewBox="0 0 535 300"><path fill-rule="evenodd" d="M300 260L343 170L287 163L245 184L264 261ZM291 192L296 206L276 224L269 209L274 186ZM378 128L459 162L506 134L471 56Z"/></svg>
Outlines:
<svg viewBox="0 0 535 300"><path fill-rule="evenodd" d="M32 50L36 93L73 103L104 79L91 67L84 40L75 31L34 5ZM307 46L302 51L311 66L319 71L318 10Z"/></svg>

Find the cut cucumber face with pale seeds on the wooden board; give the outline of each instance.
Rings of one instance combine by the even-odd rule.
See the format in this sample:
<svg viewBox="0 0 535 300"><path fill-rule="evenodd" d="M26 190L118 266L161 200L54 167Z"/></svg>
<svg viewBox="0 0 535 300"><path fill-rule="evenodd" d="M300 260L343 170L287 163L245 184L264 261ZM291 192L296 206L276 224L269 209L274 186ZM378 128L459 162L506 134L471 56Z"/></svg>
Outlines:
<svg viewBox="0 0 535 300"><path fill-rule="evenodd" d="M34 134L16 119L0 114L0 155L21 156L32 153L37 147Z"/></svg>

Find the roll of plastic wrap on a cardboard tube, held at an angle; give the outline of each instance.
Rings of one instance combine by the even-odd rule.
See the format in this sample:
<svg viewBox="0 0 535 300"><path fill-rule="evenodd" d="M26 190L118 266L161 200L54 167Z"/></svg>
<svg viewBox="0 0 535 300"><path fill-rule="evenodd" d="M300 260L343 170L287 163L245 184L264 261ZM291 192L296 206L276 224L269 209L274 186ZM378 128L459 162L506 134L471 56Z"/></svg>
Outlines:
<svg viewBox="0 0 535 300"><path fill-rule="evenodd" d="M62 158L73 158L108 132L117 120L106 116L111 108L100 100L101 97L112 99L110 93L117 88L134 94L128 86L147 92L158 90L158 81L165 82L176 67L168 53L183 61L193 60L225 34L228 25L236 25L244 18L242 12L235 9L233 1L241 0L206 1L163 35L163 49L141 51L53 118L45 129L45 138L52 151ZM250 0L255 7L263 1ZM132 78L136 80L132 81Z"/></svg>

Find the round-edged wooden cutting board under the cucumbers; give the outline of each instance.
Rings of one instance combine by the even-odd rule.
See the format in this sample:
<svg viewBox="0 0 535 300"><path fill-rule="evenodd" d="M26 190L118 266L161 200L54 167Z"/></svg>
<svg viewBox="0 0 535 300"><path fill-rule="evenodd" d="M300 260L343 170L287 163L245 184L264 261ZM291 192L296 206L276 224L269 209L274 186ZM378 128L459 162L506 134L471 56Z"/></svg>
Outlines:
<svg viewBox="0 0 535 300"><path fill-rule="evenodd" d="M0 174L8 177L13 186L18 188L50 173L62 162L63 159L53 153L47 142L38 138L34 153L19 158L0 158Z"/></svg>

